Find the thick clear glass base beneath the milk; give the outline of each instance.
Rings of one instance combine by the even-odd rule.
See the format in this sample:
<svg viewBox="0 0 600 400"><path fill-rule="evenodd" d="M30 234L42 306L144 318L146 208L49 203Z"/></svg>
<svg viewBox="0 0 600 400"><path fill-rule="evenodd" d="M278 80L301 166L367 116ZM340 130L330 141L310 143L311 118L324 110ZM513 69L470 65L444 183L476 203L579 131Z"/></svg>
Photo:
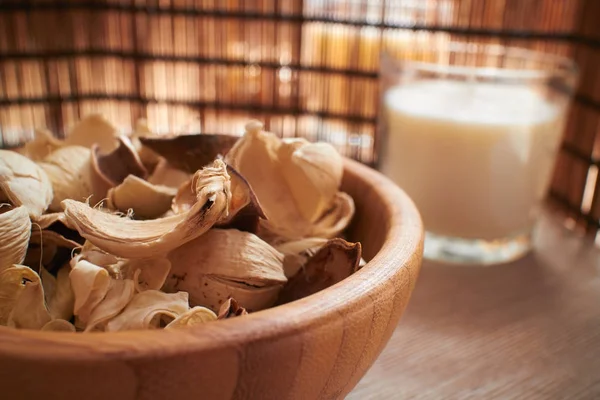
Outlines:
<svg viewBox="0 0 600 400"><path fill-rule="evenodd" d="M493 265L514 261L531 250L531 234L499 240L462 239L425 232L424 256L453 264Z"/></svg>

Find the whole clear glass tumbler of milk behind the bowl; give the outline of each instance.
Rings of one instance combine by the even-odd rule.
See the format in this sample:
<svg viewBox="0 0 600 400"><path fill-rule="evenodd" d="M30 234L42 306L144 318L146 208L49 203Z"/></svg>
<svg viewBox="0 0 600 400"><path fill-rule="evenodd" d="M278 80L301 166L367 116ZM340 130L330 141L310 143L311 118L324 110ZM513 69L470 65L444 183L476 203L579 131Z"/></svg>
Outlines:
<svg viewBox="0 0 600 400"><path fill-rule="evenodd" d="M420 210L426 258L519 258L531 248L577 68L497 45L425 51L432 62L381 56L378 168Z"/></svg>

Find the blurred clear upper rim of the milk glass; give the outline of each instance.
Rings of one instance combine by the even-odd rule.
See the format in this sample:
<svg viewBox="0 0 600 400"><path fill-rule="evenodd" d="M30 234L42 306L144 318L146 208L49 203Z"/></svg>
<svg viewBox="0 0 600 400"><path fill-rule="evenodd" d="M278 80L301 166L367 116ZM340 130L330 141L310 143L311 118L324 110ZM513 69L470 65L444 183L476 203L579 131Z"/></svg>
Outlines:
<svg viewBox="0 0 600 400"><path fill-rule="evenodd" d="M539 61L541 66L533 69L510 69L503 67L482 67L471 65L451 65L435 61L417 61L395 57L386 50L380 52L381 69L387 65L402 64L406 69L434 73L452 73L469 78L506 78L522 80L548 79L552 76L567 75L573 79L579 76L579 67L575 60L567 56L530 50L516 46L498 44L450 42L445 45L434 45L423 51L424 54L483 54L502 56L512 59Z"/></svg>

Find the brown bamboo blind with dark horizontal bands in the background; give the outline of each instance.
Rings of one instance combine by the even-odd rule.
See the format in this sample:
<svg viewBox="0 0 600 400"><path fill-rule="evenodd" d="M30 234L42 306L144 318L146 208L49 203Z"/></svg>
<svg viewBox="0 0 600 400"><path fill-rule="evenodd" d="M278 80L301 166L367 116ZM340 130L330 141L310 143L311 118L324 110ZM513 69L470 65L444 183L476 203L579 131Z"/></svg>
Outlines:
<svg viewBox="0 0 600 400"><path fill-rule="evenodd" d="M379 53L450 41L573 57L581 68L552 185L574 226L600 226L596 0L0 0L0 147L101 112L124 131L283 136L375 160Z"/></svg>

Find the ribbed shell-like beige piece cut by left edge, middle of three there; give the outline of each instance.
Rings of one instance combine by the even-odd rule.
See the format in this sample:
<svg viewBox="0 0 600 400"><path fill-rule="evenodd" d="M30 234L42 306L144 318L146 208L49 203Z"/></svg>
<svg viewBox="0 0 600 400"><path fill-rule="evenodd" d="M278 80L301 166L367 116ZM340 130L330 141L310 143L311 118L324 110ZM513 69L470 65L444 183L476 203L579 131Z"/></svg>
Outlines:
<svg viewBox="0 0 600 400"><path fill-rule="evenodd" d="M0 271L25 260L31 220L25 206L0 206Z"/></svg>

